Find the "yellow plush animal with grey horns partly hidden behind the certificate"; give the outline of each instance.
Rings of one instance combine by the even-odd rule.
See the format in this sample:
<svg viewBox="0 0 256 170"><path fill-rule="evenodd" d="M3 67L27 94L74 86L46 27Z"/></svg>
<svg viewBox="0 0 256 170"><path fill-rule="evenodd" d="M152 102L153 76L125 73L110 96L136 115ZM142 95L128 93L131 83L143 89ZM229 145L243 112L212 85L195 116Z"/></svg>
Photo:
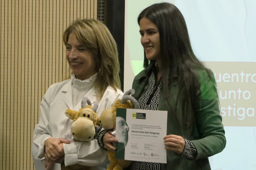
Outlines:
<svg viewBox="0 0 256 170"><path fill-rule="evenodd" d="M101 113L99 117L99 123L105 130L114 130L116 128L116 108L132 108L132 102L135 105L135 108L139 109L139 103L137 102L137 100L134 99L134 97L130 96L130 94L134 93L134 89L130 89L124 94L121 100L116 99L116 101L113 102L111 108L106 108ZM129 102L128 100L131 100L131 102ZM128 160L115 159L115 153L111 151L108 151L108 159L110 161L110 164L107 170L123 170L129 167L132 163L132 161Z"/></svg>

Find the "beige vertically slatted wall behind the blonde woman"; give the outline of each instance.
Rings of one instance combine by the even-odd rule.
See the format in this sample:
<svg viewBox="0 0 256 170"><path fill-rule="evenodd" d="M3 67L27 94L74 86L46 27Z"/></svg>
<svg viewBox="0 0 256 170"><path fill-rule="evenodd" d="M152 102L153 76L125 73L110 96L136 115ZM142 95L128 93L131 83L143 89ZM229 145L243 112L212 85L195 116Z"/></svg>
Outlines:
<svg viewBox="0 0 256 170"><path fill-rule="evenodd" d="M97 18L97 0L0 1L0 170L32 170L42 96L69 76L62 34Z"/></svg>

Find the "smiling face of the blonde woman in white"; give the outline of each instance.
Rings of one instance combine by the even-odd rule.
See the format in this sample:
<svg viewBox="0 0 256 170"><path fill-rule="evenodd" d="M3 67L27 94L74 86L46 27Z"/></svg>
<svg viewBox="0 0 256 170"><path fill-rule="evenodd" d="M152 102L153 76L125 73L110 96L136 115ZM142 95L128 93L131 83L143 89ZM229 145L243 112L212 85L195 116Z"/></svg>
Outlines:
<svg viewBox="0 0 256 170"><path fill-rule="evenodd" d="M73 33L68 37L66 58L77 79L85 80L96 73L96 61L93 54L77 40Z"/></svg>

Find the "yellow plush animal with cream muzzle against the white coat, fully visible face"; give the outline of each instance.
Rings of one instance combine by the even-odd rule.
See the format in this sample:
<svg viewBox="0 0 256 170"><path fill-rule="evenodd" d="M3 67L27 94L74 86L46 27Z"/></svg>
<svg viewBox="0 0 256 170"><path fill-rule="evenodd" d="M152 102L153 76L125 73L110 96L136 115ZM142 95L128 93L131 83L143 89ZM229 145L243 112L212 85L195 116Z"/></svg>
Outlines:
<svg viewBox="0 0 256 170"><path fill-rule="evenodd" d="M88 105L86 105L86 103ZM92 107L90 100L84 97L81 100L81 109L79 111L73 111L67 109L65 114L69 119L73 120L71 125L71 133L75 142L78 141L90 141L95 135L95 125L99 125L99 118L96 110L98 103L95 103Z"/></svg>

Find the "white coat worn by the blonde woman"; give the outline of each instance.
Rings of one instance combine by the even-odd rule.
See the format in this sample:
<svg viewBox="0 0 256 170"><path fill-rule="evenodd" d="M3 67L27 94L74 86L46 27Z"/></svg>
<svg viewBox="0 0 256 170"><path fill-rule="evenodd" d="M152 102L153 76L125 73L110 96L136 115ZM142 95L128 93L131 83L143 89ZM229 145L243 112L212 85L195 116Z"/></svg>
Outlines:
<svg viewBox="0 0 256 170"><path fill-rule="evenodd" d="M122 91L117 90L115 92L112 88L108 87L101 101L99 101L97 115L99 116L105 108L111 107L117 98L122 98L122 95ZM96 101L95 89L91 88L86 96L93 105ZM43 167L45 140L50 137L61 138L70 130L73 121L69 120L65 115L66 109L70 108L78 111L81 108L81 102L73 108L71 79L51 85L42 99L40 108L40 119L38 125L35 126L32 143L32 156L37 170L41 168L45 169ZM107 168L107 152L98 146L96 139L90 142L64 144L63 147L65 166L82 164L92 166L91 170L103 170ZM52 169L60 170L60 164L55 164Z"/></svg>

